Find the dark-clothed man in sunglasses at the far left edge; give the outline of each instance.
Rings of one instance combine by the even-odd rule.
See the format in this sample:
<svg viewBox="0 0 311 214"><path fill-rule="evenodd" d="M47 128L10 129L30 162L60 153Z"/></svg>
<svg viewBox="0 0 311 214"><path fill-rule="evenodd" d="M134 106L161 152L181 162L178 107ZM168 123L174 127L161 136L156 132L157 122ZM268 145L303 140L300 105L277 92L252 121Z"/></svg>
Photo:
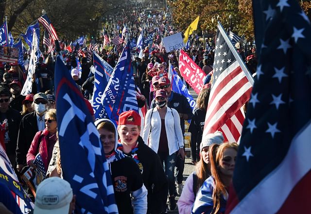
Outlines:
<svg viewBox="0 0 311 214"><path fill-rule="evenodd" d="M8 88L0 87L0 137L4 140L4 149L12 166L15 168L15 149L17 144L17 130L21 120L20 113L10 107L11 93Z"/></svg>

